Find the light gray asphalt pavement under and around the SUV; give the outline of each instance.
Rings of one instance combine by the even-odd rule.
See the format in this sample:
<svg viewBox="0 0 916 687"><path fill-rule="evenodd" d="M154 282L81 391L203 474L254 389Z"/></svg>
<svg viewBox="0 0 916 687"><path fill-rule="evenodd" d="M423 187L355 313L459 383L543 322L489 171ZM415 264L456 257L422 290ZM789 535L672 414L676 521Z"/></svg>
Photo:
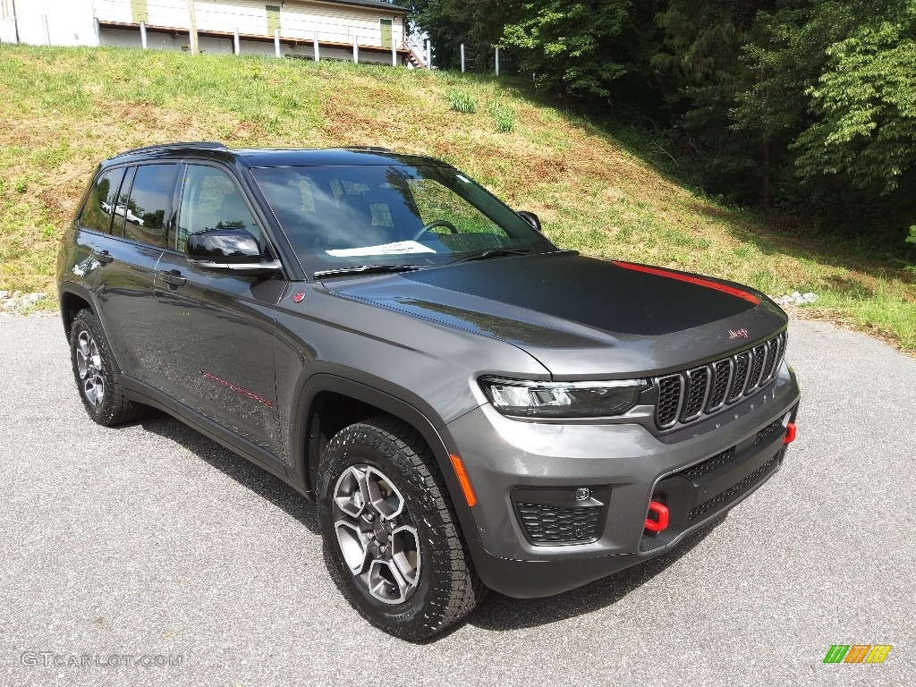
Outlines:
<svg viewBox="0 0 916 687"><path fill-rule="evenodd" d="M0 684L916 684L916 359L867 335L791 323L798 440L716 526L422 645L347 604L288 486L164 414L93 424L60 319L0 342Z"/></svg>

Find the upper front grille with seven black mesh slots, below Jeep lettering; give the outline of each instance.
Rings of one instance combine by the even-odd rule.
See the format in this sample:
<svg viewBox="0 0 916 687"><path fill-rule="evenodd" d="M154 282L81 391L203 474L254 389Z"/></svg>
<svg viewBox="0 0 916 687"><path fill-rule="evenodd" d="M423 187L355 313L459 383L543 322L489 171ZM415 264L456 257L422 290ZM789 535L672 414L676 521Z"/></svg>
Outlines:
<svg viewBox="0 0 916 687"><path fill-rule="evenodd" d="M655 377L652 381L659 393L656 424L661 430L671 430L753 396L779 374L785 352L783 332L709 365Z"/></svg>

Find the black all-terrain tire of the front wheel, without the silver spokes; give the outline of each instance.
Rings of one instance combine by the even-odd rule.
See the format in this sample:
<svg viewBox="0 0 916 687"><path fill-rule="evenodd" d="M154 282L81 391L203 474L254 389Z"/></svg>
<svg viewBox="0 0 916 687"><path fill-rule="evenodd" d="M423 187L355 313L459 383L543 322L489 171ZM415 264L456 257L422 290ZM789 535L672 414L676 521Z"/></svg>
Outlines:
<svg viewBox="0 0 916 687"><path fill-rule="evenodd" d="M360 474L370 474L376 482L390 484L393 489L388 492L397 494L392 501L399 499L403 504L401 515L393 518L390 527L416 531L419 573L403 601L380 600L377 587L374 595L371 584L364 579L368 575L355 573L344 554L344 543L339 539L342 519L360 524L362 520L346 517L336 504L346 491L344 480L355 484ZM486 587L474 573L442 474L429 446L407 423L381 416L338 432L322 453L317 487L328 558L344 594L369 622L395 637L420 641L457 623L483 599ZM361 504L362 497L358 505ZM372 515L368 514L370 521ZM365 517L364 514L362 518ZM343 532L344 540L352 547L350 530ZM367 555L362 570L373 565L376 563L371 554Z"/></svg>

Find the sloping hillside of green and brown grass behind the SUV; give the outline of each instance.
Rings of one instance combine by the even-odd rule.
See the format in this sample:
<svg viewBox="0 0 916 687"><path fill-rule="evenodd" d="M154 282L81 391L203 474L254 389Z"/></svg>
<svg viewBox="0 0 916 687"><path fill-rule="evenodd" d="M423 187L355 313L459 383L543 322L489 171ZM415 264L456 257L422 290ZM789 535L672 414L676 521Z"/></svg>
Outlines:
<svg viewBox="0 0 916 687"><path fill-rule="evenodd" d="M473 112L458 112L450 105ZM512 82L350 63L0 46L0 289L54 292L94 165L127 147L373 145L444 158L559 245L814 291L818 312L916 349L916 269L780 234Z"/></svg>

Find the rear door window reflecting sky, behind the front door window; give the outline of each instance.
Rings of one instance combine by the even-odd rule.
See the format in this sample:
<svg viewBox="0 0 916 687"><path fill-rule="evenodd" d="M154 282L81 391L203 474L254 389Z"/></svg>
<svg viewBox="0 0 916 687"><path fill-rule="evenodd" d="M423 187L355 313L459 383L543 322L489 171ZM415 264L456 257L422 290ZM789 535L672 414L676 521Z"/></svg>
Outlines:
<svg viewBox="0 0 916 687"><path fill-rule="evenodd" d="M130 200L125 207L125 238L148 245L166 245L166 216L175 188L177 165L136 168Z"/></svg>

